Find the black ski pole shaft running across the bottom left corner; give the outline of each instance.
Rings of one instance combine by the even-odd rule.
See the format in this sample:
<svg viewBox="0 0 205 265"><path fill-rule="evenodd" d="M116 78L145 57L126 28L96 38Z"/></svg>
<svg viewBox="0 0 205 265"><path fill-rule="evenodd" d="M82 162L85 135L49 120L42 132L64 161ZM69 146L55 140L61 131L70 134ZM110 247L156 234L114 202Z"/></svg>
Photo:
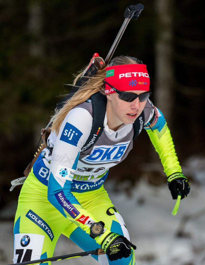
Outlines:
<svg viewBox="0 0 205 265"><path fill-rule="evenodd" d="M16 265L33 265L33 264L39 264L39 263L41 264L41 263L45 263L48 261L52 262L52 261L59 261L59 260L68 260L68 259L72 259L72 258L85 257L85 256L89 256L89 255L103 255L103 254L105 254L105 252L102 250L102 248L97 248L97 249L91 250L91 251L62 255L62 256L57 256L57 257L40 259L40 260L31 260L31 261L20 262L20 263L16 263ZM9 265L13 265L13 264L9 264Z"/></svg>

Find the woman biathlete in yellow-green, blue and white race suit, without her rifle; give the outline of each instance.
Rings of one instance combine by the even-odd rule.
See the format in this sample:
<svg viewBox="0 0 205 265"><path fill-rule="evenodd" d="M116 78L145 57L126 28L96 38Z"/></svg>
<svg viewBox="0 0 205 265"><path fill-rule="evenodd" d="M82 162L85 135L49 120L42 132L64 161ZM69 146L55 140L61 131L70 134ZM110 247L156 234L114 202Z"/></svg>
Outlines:
<svg viewBox="0 0 205 265"><path fill-rule="evenodd" d="M107 101L104 128L99 127L85 145L95 114L90 97L96 92ZM109 168L131 151L134 133L146 129L162 161L172 198L181 191L183 199L190 190L165 118L148 99L150 94L146 65L134 57L119 56L98 70L52 117L47 147L20 192L14 263L52 257L61 234L84 251L102 247L106 255L93 257L103 265L135 263L136 247L103 187ZM100 129L103 132L97 139Z"/></svg>

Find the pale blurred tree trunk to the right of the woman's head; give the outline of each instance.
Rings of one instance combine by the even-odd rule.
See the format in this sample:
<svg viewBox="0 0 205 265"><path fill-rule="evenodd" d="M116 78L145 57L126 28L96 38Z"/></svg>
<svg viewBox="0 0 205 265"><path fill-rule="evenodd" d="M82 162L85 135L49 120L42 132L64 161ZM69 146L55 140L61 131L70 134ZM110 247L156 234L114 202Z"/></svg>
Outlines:
<svg viewBox="0 0 205 265"><path fill-rule="evenodd" d="M155 46L155 104L168 123L172 123L173 102L173 17L172 0L156 0L158 36Z"/></svg>

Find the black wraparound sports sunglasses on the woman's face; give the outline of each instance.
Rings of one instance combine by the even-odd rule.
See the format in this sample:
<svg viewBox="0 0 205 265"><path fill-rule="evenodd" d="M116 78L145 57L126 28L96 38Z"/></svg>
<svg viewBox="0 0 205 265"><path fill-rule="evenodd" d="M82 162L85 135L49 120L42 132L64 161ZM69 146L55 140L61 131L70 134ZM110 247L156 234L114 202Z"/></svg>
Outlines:
<svg viewBox="0 0 205 265"><path fill-rule="evenodd" d="M131 92L122 92L122 91L119 91L118 89L114 88L112 85L110 85L108 82L106 81L103 81L104 84L108 84L117 94L118 94L118 97L121 99L121 100L124 100L126 102L132 102L134 101L137 97L139 97L139 101L140 102L143 102L143 101L146 101L150 95L152 94L152 92L148 91L148 92L144 92L140 95L138 94L135 94L135 93L131 93Z"/></svg>

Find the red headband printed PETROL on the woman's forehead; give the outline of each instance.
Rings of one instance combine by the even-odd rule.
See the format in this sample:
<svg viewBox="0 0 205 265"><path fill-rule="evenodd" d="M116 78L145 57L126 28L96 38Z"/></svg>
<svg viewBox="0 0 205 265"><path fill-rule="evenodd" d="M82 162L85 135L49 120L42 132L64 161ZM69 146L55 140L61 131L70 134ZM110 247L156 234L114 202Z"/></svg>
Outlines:
<svg viewBox="0 0 205 265"><path fill-rule="evenodd" d="M150 77L145 64L123 64L106 67L105 81L120 91L150 90ZM105 84L105 93L115 91Z"/></svg>

